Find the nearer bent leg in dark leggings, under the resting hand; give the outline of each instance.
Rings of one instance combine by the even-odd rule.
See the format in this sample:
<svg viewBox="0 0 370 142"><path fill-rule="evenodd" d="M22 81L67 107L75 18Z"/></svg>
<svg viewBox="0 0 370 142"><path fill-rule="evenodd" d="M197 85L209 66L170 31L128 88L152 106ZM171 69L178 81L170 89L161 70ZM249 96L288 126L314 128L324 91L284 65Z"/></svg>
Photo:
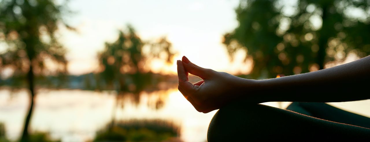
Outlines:
<svg viewBox="0 0 370 142"><path fill-rule="evenodd" d="M240 101L219 109L209 124L207 134L209 142L276 139L369 140L370 129Z"/></svg>

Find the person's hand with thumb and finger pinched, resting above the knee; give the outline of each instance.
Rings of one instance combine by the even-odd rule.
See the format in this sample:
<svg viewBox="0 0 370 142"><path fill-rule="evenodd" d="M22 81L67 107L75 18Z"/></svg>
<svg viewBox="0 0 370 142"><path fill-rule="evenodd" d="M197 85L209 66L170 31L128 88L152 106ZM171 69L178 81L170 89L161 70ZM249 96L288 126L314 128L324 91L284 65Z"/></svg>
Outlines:
<svg viewBox="0 0 370 142"><path fill-rule="evenodd" d="M188 73L202 78L194 84L189 82ZM186 58L177 61L178 89L198 112L208 113L240 97L243 89L253 89L254 80L236 77L199 67ZM250 87L250 88L249 88Z"/></svg>

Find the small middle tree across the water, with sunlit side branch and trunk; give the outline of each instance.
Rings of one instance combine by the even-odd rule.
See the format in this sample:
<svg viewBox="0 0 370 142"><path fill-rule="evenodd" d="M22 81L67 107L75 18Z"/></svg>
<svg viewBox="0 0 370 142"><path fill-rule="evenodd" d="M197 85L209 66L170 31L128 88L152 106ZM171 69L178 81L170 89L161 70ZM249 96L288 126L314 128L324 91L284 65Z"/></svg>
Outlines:
<svg viewBox="0 0 370 142"><path fill-rule="evenodd" d="M175 54L166 38L161 38L158 42L144 42L137 36L133 27L127 26L127 29L127 33L119 31L118 39L114 43L105 43L105 49L98 53L101 70L101 78L98 78L104 80L106 89L113 89L118 94L109 130L112 130L115 123L115 110L120 104L119 99L130 92L137 104L139 92L154 80L145 68L147 59L165 58L166 62L171 63ZM143 51L144 47L148 47L146 53Z"/></svg>

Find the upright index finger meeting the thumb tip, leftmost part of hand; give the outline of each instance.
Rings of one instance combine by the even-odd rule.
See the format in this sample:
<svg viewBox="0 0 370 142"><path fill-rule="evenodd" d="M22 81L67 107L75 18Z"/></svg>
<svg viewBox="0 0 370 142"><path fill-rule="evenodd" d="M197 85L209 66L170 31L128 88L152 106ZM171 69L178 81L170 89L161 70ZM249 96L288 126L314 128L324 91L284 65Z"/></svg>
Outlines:
<svg viewBox="0 0 370 142"><path fill-rule="evenodd" d="M187 80L184 65L180 60L177 60L177 76L179 78L179 86L184 89L185 92L189 94L194 92L194 85Z"/></svg>

